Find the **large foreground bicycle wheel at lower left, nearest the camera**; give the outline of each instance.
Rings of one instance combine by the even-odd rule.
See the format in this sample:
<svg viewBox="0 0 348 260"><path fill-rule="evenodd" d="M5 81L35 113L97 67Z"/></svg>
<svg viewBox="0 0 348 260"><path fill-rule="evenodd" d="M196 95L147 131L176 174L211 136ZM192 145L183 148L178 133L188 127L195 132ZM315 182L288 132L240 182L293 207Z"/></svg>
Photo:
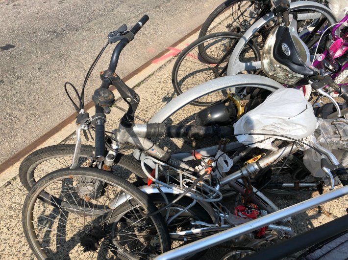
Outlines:
<svg viewBox="0 0 348 260"><path fill-rule="evenodd" d="M101 183L98 194L90 193L92 181ZM42 201L43 194L50 204ZM112 173L60 169L34 184L22 222L38 259L152 259L170 249L161 215L143 216L156 210L144 193Z"/></svg>

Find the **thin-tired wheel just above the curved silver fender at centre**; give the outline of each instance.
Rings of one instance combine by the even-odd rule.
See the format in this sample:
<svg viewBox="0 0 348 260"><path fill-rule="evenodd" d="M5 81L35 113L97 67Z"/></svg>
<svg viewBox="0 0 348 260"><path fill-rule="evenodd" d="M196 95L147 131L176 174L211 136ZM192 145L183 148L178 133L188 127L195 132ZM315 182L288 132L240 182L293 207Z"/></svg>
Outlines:
<svg viewBox="0 0 348 260"><path fill-rule="evenodd" d="M187 46L180 53L173 67L172 83L176 94L180 95L191 87L224 76L230 54L241 37L239 33L220 32L199 38ZM203 45L209 56L201 55L199 46ZM240 59L245 62L260 61L261 55L256 44L249 42L243 49ZM226 91L216 91L191 104L210 106L226 96Z"/></svg>

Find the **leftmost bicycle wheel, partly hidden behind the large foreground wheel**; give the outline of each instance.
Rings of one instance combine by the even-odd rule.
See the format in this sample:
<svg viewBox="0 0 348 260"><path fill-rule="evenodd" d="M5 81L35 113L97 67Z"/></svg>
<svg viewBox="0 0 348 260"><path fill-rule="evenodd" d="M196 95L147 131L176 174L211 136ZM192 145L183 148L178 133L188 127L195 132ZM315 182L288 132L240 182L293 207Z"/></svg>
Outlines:
<svg viewBox="0 0 348 260"><path fill-rule="evenodd" d="M94 150L95 148L93 146L81 145L81 152L78 160L79 167L90 167L93 164ZM30 190L36 180L47 173L70 167L73 162L74 152L74 144L64 144L45 147L29 154L19 167L19 177L23 186L27 190ZM130 171L141 178L145 178L146 175L141 170L141 166L134 162L136 162L135 159L118 153L115 164L121 166L124 170L117 168L115 171L117 171L118 174L129 174Z"/></svg>

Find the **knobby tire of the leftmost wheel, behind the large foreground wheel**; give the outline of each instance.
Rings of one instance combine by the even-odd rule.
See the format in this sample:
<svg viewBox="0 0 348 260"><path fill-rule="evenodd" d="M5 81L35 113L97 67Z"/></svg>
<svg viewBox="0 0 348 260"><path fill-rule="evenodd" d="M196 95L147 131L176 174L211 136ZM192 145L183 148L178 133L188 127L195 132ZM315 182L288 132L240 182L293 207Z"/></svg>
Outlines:
<svg viewBox="0 0 348 260"><path fill-rule="evenodd" d="M93 158L94 151L95 151L95 148L93 146L81 145L80 157L86 156L86 157ZM20 180L23 186L25 187L25 189L29 191L32 185L35 183L34 172L39 165L43 164L44 162L47 162L50 159L56 159L62 156L70 157L72 159L74 152L75 152L75 144L63 144L63 145L53 145L53 146L45 147L37 151L34 151L30 153L28 156L26 156L25 159L22 161L18 171ZM142 171L141 165L137 163L135 159L127 155L118 153L114 163L128 171L131 171L132 173L135 173L137 176L141 178L146 178L146 174ZM69 167L70 165L68 162L64 161L61 163L61 165L59 166L54 165L54 166L56 168L54 170L57 170L60 168ZM53 171L52 169L50 170L45 169L46 174L52 171Z"/></svg>

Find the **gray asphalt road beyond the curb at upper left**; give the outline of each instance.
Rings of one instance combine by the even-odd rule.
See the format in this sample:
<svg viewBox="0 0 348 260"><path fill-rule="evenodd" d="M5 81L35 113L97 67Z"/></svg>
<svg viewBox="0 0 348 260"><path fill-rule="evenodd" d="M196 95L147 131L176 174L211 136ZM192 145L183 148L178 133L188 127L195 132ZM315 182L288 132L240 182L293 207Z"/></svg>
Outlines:
<svg viewBox="0 0 348 260"><path fill-rule="evenodd" d="M204 22L216 0L0 0L0 163L74 112L63 84L84 76L122 23L149 22L122 53L127 75ZM99 86L112 48L96 66L86 101Z"/></svg>

